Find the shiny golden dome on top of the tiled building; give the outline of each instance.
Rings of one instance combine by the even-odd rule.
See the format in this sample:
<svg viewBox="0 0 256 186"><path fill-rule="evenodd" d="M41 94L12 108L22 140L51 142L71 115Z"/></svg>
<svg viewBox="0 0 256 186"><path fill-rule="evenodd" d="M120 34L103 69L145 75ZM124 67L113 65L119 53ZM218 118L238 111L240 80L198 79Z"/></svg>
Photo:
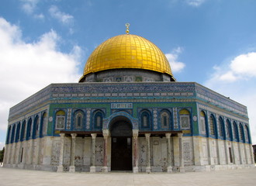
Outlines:
<svg viewBox="0 0 256 186"><path fill-rule="evenodd" d="M145 69L173 77L167 58L154 43L141 36L124 34L106 40L92 52L81 79L89 73L118 68Z"/></svg>

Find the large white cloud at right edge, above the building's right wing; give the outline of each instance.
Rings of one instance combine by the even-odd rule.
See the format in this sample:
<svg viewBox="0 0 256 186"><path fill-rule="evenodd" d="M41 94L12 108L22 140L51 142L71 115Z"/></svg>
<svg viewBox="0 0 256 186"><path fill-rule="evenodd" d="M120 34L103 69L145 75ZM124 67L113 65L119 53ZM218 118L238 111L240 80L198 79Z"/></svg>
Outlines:
<svg viewBox="0 0 256 186"><path fill-rule="evenodd" d="M256 53L244 53L229 64L213 67L213 75L204 83L220 94L247 106L252 142L256 143Z"/></svg>

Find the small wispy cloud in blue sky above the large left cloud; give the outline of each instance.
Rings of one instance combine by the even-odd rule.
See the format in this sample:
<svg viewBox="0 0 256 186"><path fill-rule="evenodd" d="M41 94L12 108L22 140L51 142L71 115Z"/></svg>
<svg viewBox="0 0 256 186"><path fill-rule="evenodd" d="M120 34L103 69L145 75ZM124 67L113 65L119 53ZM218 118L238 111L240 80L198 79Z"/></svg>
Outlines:
<svg viewBox="0 0 256 186"><path fill-rule="evenodd" d="M53 18L65 25L69 25L73 22L74 17L72 15L61 12L55 5L50 6L49 12Z"/></svg>

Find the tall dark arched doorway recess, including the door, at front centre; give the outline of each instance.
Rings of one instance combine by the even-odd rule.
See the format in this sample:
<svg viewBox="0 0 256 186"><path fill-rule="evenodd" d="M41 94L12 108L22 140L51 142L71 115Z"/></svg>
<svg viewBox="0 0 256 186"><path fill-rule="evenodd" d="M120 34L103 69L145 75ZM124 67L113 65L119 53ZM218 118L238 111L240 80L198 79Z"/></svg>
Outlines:
<svg viewBox="0 0 256 186"><path fill-rule="evenodd" d="M111 143L111 171L133 170L133 130L130 120L118 116L110 125Z"/></svg>

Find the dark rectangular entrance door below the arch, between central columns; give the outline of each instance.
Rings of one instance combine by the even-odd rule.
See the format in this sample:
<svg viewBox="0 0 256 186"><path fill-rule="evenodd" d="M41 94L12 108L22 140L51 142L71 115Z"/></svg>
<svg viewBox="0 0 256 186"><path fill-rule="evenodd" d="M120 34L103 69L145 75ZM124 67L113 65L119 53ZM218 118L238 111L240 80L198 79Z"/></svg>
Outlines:
<svg viewBox="0 0 256 186"><path fill-rule="evenodd" d="M131 137L112 137L111 170L133 170Z"/></svg>

